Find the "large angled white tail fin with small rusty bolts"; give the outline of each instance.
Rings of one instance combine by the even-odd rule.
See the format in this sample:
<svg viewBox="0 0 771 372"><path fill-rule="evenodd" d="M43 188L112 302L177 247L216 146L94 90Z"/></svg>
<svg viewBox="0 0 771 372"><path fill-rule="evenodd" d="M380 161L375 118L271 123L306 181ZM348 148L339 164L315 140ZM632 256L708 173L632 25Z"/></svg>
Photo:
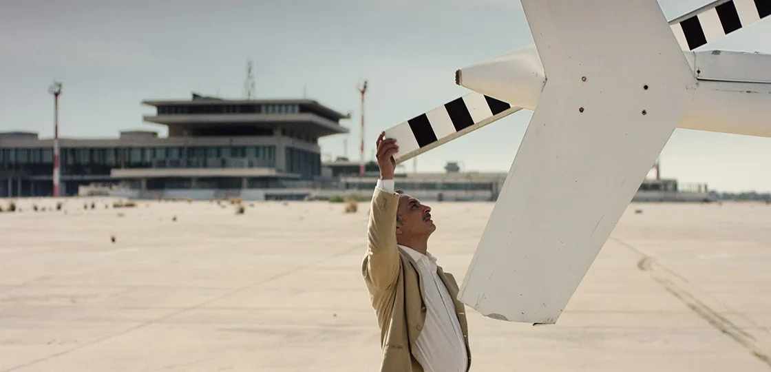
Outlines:
<svg viewBox="0 0 771 372"><path fill-rule="evenodd" d="M522 6L547 83L460 300L497 319L555 323L696 80L656 0Z"/></svg>

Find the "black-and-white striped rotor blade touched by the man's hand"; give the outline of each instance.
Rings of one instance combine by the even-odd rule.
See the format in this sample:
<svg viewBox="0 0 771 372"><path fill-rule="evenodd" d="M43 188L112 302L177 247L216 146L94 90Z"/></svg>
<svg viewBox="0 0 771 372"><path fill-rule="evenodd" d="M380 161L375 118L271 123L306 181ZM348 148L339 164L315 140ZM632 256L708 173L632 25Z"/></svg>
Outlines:
<svg viewBox="0 0 771 372"><path fill-rule="evenodd" d="M394 160L398 164L519 110L493 97L470 93L385 130L385 138L396 138L399 152Z"/></svg>

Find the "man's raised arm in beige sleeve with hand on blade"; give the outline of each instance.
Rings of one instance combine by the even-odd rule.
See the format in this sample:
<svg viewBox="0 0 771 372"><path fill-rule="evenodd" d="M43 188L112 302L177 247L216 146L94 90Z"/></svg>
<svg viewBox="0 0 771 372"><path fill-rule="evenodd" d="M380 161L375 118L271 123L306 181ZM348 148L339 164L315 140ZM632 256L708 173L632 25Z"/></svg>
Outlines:
<svg viewBox="0 0 771 372"><path fill-rule="evenodd" d="M396 246L396 208L399 194L394 192L393 173L396 162L393 154L399 147L392 139L377 141L377 159L380 179L372 194L367 227L367 257L364 276L377 289L386 289L399 277L399 251Z"/></svg>

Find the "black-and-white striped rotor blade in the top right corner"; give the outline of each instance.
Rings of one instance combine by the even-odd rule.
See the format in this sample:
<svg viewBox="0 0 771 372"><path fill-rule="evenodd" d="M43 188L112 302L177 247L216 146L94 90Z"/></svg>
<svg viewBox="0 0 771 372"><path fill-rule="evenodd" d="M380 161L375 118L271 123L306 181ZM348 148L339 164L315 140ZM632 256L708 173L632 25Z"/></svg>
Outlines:
<svg viewBox="0 0 771 372"><path fill-rule="evenodd" d="M714 42L771 15L771 0L718 0L669 22L683 50Z"/></svg>

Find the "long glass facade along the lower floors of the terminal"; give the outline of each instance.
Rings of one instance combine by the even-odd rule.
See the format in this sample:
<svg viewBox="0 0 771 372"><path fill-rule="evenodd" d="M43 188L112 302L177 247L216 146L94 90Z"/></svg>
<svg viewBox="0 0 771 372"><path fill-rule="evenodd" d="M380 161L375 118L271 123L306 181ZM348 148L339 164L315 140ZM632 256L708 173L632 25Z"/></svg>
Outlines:
<svg viewBox="0 0 771 372"><path fill-rule="evenodd" d="M114 182L113 168L233 168L268 167L312 179L321 174L321 155L284 147L279 161L274 146L166 146L166 147L62 147L62 187L65 195L79 185ZM0 148L0 197L45 196L53 193L53 150L50 148ZM130 184L138 184L129 180ZM149 190L163 188L281 188L280 180L248 178L148 178Z"/></svg>

